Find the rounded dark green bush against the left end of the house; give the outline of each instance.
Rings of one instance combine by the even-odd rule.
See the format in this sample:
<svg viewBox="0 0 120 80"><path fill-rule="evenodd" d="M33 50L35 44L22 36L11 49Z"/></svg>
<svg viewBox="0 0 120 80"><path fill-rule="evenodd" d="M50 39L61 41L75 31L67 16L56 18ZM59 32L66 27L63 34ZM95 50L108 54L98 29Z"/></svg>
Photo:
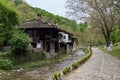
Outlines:
<svg viewBox="0 0 120 80"><path fill-rule="evenodd" d="M10 40L10 46L12 54L15 56L26 55L27 48L29 45L29 39L26 34L18 33L14 34Z"/></svg>

